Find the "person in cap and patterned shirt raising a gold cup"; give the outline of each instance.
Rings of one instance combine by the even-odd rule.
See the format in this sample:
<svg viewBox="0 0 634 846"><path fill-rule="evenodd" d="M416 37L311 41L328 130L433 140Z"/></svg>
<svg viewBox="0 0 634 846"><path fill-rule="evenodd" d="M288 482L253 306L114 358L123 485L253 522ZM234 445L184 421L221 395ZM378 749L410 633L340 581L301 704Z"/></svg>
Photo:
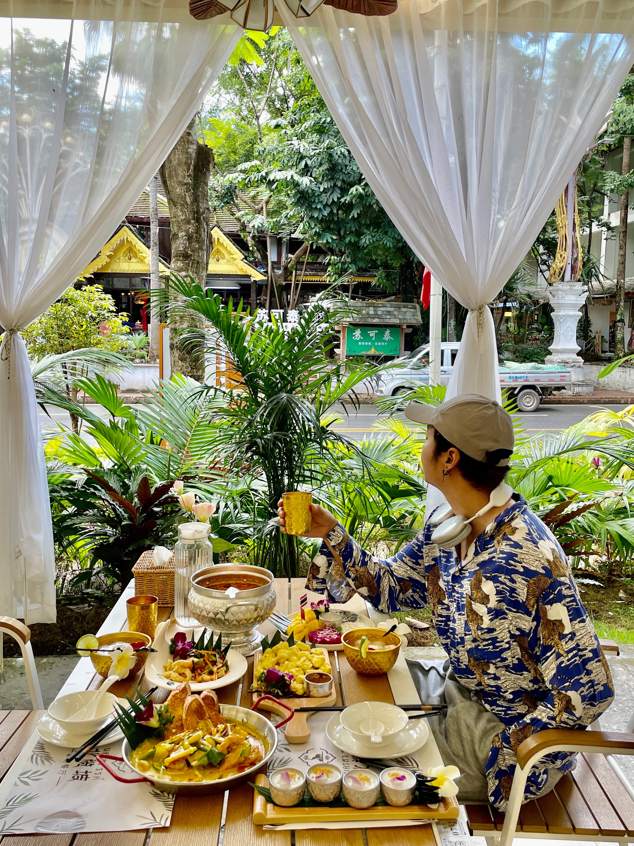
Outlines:
<svg viewBox="0 0 634 846"><path fill-rule="evenodd" d="M499 487L514 445L510 415L478 394L436 407L413 403L405 414L427 424L425 480L440 488L453 514L473 518L468 536L452 547L456 534L449 532L442 541L449 548L432 541L435 508L400 552L374 558L313 505L309 537L324 543L307 586L336 602L356 591L387 613L431 608L449 657L408 661L421 701L447 706L429 727L445 764L462 772L460 801L489 800L504 810L522 740L544 728L588 726L614 687L566 555L525 499ZM495 489L502 504L474 516ZM278 515L283 530L283 508ZM575 763L567 752L538 761L524 801L548 793Z"/></svg>

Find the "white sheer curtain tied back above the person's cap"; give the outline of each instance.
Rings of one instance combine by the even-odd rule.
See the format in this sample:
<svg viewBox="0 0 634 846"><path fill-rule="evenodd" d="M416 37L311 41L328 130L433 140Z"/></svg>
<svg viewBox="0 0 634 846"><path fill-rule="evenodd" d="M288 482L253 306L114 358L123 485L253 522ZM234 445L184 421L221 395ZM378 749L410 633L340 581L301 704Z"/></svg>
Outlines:
<svg viewBox="0 0 634 846"><path fill-rule="evenodd" d="M385 18L322 5L301 21L278 8L385 211L470 310L447 396L500 399L481 306L601 128L631 67L634 3L401 0Z"/></svg>

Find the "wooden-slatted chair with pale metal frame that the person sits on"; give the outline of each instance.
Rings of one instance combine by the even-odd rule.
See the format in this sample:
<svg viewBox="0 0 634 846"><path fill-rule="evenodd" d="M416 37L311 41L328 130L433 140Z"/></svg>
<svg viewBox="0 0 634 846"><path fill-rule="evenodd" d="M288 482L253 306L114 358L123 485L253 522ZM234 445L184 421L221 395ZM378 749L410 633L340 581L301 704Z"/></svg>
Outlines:
<svg viewBox="0 0 634 846"><path fill-rule="evenodd" d="M619 654L613 640L604 652ZM506 814L491 805L466 805L469 830L489 844L511 846L513 838L634 843L634 788L613 755L634 755L634 717L628 732L549 728L517 747L517 768ZM522 805L527 775L549 752L579 752L577 767L554 790ZM459 797L458 797L459 798Z"/></svg>

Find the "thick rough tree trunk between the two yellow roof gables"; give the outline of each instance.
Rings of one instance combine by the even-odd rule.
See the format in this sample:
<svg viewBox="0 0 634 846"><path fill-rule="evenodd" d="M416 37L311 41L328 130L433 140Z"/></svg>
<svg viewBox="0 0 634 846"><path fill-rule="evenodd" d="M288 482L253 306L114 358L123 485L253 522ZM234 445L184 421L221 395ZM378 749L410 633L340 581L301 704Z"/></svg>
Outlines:
<svg viewBox="0 0 634 846"><path fill-rule="evenodd" d="M170 207L172 271L191 276L205 287L210 255L209 177L213 154L196 138L195 118L161 166L161 181ZM183 324L172 321L172 373L202 382L205 358L202 343L184 346L178 339Z"/></svg>

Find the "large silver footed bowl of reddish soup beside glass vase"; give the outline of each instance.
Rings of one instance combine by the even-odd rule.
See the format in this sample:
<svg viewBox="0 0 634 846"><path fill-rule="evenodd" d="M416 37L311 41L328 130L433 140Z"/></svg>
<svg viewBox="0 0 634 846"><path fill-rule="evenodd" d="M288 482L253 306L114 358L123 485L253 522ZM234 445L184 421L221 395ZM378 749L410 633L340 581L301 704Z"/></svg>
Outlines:
<svg viewBox="0 0 634 846"><path fill-rule="evenodd" d="M227 583L243 580L260 582L249 590L215 590L205 586L216 576L226 576ZM189 612L200 624L222 634L222 644L232 641L232 649L243 655L253 652L262 640L255 628L264 623L276 607L273 574L251 564L215 564L197 570L191 577Z"/></svg>

